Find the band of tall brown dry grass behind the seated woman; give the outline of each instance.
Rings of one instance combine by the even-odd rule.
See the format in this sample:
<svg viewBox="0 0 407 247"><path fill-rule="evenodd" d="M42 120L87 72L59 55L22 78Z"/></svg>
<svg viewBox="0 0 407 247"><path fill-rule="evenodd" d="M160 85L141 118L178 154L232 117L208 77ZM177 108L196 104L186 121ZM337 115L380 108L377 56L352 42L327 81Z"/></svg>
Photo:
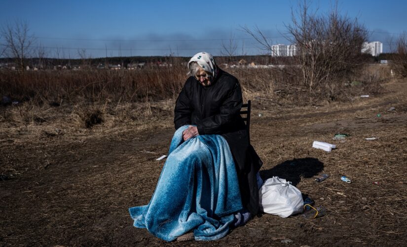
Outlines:
<svg viewBox="0 0 407 247"><path fill-rule="evenodd" d="M372 66L368 66L372 67ZM374 66L378 68L380 66ZM321 86L314 95L308 95L304 85L296 78L296 67L282 69L233 69L228 72L238 77L244 92L250 97L262 93L277 99L297 103L300 98L326 97ZM354 73L354 79L370 86L389 78L387 66L379 70L363 69ZM28 71L25 73L0 71L0 93L13 100L36 105L75 103L127 103L175 99L186 80L185 68L181 66L157 67L134 71L82 70L82 71ZM332 82L337 88L334 94L347 96L343 82ZM328 88L328 89L327 89ZM293 96L295 95L295 96Z"/></svg>

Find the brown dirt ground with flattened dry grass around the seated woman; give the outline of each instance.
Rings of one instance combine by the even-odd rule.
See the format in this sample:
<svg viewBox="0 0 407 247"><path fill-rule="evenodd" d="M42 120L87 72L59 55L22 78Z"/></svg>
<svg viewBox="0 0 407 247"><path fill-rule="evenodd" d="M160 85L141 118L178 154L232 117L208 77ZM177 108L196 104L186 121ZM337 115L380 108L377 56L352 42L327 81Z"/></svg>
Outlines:
<svg viewBox="0 0 407 247"><path fill-rule="evenodd" d="M261 177L292 181L327 212L315 219L259 214L214 242L166 243L133 227L128 214L153 193L165 162L155 159L167 154L174 133L171 109L153 108L137 120L143 127L74 127L54 108L56 120L0 123L0 173L8 176L0 180L0 246L404 246L407 82L383 86L383 94L350 103L253 99ZM349 137L333 140L339 132ZM337 148L313 149L314 140ZM321 173L331 176L315 182Z"/></svg>

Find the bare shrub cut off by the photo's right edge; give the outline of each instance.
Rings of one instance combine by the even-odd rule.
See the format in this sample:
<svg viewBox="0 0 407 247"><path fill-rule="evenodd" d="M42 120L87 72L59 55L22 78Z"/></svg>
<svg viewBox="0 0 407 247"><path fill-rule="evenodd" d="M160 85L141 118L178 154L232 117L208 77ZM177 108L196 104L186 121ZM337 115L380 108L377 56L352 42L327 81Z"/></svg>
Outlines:
<svg viewBox="0 0 407 247"><path fill-rule="evenodd" d="M390 66L396 76L407 78L407 33L403 33L392 46L394 55Z"/></svg>

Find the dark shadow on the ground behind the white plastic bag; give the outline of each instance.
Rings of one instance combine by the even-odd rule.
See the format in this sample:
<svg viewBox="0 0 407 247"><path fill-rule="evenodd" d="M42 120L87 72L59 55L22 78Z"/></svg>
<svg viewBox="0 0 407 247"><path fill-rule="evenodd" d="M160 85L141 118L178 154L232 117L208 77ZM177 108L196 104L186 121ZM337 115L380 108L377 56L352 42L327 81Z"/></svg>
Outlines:
<svg viewBox="0 0 407 247"><path fill-rule="evenodd" d="M297 186L301 177L310 178L324 169L324 163L320 162L316 158L302 158L288 160L283 163L280 163L268 170L260 170L260 177L263 180L271 178L273 176L278 176L284 178L287 181L293 183L294 186Z"/></svg>

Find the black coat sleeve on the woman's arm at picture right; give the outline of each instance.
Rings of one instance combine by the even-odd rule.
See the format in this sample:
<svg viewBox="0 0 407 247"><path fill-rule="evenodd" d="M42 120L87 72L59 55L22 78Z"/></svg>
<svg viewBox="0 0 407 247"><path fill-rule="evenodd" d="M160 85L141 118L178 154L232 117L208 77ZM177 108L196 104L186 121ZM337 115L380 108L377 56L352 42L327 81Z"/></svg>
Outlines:
<svg viewBox="0 0 407 247"><path fill-rule="evenodd" d="M233 80L232 85L226 91L225 99L220 107L219 114L202 119L196 123L198 133L204 134L222 134L222 127L231 124L239 116L242 108L242 90L239 82Z"/></svg>

